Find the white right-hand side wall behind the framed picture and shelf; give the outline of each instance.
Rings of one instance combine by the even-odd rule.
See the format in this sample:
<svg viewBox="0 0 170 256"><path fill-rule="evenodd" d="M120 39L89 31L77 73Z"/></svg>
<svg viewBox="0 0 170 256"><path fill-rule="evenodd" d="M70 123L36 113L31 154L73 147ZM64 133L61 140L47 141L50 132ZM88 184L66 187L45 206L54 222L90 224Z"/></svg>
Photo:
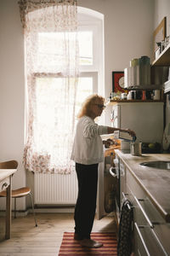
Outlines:
<svg viewBox="0 0 170 256"><path fill-rule="evenodd" d="M170 36L170 0L156 0L154 29L167 17L167 36ZM166 124L170 122L170 101L167 96Z"/></svg>

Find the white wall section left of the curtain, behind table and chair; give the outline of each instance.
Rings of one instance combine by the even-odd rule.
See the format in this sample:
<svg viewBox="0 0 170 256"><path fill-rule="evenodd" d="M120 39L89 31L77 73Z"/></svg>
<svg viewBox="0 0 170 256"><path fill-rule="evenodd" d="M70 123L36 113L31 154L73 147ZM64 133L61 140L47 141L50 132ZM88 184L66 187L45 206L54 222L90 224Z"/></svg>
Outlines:
<svg viewBox="0 0 170 256"><path fill-rule="evenodd" d="M24 41L17 0L0 1L0 160L18 160L13 187L26 185L24 145ZM1 199L1 202L3 199ZM18 201L20 209L25 200Z"/></svg>

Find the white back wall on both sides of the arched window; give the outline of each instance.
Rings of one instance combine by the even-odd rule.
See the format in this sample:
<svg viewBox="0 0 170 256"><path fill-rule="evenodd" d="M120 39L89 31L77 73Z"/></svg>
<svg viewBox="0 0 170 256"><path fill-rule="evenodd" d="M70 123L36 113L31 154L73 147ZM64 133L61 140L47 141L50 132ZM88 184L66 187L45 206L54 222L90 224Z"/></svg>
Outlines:
<svg viewBox="0 0 170 256"><path fill-rule="evenodd" d="M168 0L167 0L168 2ZM111 72L129 61L151 56L154 0L78 0L78 5L105 15L105 96L111 93ZM160 1L161 3L161 1ZM24 41L18 0L0 1L0 160L16 159L14 188L26 184L24 145ZM109 118L106 119L109 122ZM2 199L1 199L2 200ZM20 199L19 209L25 200Z"/></svg>

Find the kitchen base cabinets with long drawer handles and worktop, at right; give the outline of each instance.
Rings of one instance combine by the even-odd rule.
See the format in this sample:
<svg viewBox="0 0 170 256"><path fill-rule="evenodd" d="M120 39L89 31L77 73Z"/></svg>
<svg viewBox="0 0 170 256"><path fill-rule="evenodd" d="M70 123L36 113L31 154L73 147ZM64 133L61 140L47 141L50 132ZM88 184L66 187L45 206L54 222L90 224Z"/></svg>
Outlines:
<svg viewBox="0 0 170 256"><path fill-rule="evenodd" d="M120 198L125 195L133 205L134 255L170 255L169 199L167 194L170 173L159 170L159 176L156 169L139 166L146 159L169 160L170 155L132 156L123 154L121 150L116 150L116 157L123 165L122 169L124 170L124 175L120 176L120 184L122 184ZM123 180L121 180L122 178ZM165 180L167 185L164 183Z"/></svg>

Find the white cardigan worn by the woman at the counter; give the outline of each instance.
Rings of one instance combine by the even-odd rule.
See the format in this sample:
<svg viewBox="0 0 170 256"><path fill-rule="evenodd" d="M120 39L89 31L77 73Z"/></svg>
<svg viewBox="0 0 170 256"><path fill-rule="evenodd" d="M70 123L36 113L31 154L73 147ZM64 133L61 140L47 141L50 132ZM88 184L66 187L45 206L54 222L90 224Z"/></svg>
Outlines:
<svg viewBox="0 0 170 256"><path fill-rule="evenodd" d="M93 165L104 160L103 142L100 137L108 127L97 125L94 119L83 116L78 120L71 160L82 165Z"/></svg>

